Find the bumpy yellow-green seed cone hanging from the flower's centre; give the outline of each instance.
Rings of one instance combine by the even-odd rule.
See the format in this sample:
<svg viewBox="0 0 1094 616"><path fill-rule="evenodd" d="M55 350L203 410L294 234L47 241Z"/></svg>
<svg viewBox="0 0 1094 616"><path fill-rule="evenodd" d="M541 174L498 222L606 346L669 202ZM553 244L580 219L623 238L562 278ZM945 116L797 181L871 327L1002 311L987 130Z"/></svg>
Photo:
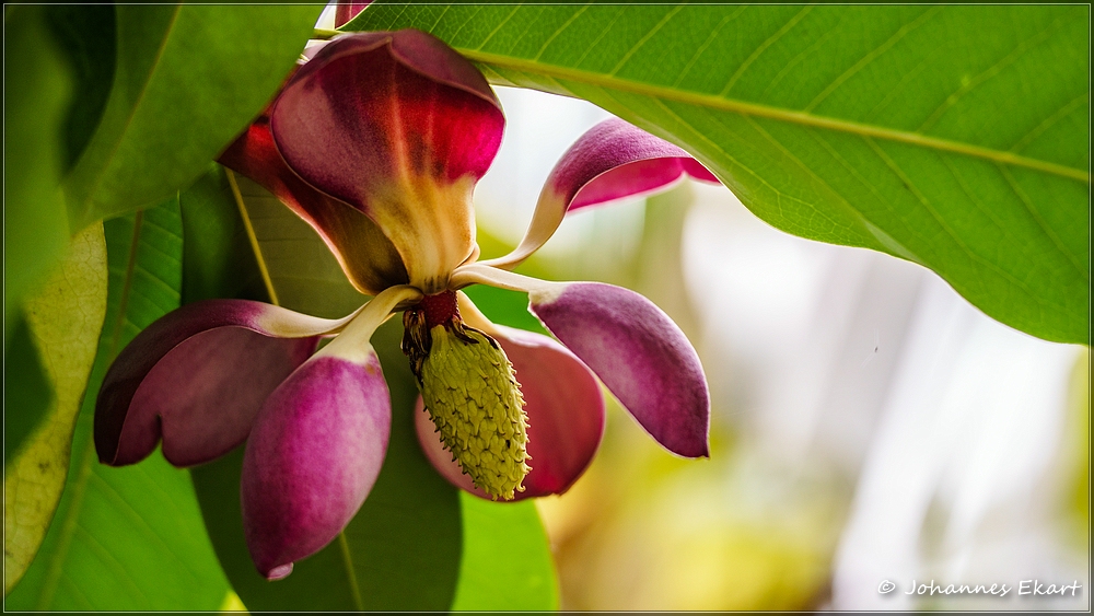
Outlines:
<svg viewBox="0 0 1094 616"><path fill-rule="evenodd" d="M513 364L489 336L444 325L430 330L421 364L421 396L445 449L475 486L511 500L532 468L527 416Z"/></svg>

